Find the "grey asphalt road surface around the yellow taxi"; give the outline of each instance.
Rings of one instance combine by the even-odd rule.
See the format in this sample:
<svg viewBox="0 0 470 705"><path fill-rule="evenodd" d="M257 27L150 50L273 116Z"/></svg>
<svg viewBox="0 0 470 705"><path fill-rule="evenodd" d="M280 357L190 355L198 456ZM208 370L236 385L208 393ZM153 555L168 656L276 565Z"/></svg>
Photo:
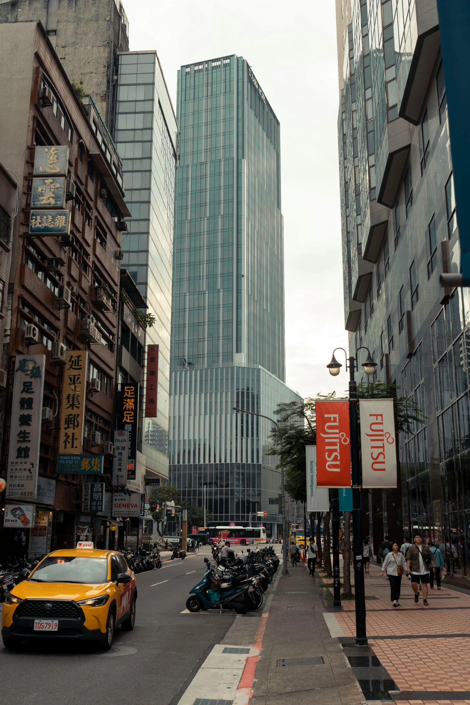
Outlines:
<svg viewBox="0 0 470 705"><path fill-rule="evenodd" d="M163 563L137 575L137 616L132 632L115 632L107 654L70 643L27 644L18 651L0 643L1 701L35 705L176 705L235 614L181 614L204 571L195 556Z"/></svg>

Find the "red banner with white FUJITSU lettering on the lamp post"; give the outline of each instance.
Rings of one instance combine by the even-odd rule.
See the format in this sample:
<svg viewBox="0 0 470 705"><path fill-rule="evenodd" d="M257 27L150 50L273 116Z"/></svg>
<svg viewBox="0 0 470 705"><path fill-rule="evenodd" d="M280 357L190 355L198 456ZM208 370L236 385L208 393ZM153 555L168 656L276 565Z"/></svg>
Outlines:
<svg viewBox="0 0 470 705"><path fill-rule="evenodd" d="M316 401L316 485L351 486L350 405Z"/></svg>

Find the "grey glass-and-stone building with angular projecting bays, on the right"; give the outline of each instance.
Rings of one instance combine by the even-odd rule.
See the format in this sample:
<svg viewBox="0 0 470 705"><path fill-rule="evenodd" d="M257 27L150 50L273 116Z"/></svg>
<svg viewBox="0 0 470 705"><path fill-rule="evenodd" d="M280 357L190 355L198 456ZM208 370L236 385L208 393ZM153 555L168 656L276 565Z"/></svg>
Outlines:
<svg viewBox="0 0 470 705"><path fill-rule="evenodd" d="M437 8L337 0L336 19L350 353L366 345L378 379L426 417L399 437L401 496L383 506L395 496L401 512L388 534L421 531L470 577L469 291L438 281L458 271L460 250Z"/></svg>

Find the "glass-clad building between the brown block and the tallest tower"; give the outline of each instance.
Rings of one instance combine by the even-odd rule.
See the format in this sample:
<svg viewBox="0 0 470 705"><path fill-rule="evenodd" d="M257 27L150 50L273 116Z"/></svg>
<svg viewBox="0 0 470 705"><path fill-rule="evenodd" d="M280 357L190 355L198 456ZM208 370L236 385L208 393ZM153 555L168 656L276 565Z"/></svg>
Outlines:
<svg viewBox="0 0 470 705"><path fill-rule="evenodd" d="M156 321L146 343L159 345L157 416L144 419L147 469L168 477L171 281L178 126L155 51L119 54L115 142L126 204L123 262ZM144 361L145 365L147 360ZM127 381L127 380L122 380ZM145 388L144 380L141 380ZM142 400L144 403L144 400Z"/></svg>

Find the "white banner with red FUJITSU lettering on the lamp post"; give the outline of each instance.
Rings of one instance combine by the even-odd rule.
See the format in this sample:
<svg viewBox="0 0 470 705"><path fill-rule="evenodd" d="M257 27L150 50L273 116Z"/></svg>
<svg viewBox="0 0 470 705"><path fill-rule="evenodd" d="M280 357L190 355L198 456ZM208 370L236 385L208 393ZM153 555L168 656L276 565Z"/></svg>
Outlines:
<svg viewBox="0 0 470 705"><path fill-rule="evenodd" d="M397 486L392 399L360 399L363 487Z"/></svg>

